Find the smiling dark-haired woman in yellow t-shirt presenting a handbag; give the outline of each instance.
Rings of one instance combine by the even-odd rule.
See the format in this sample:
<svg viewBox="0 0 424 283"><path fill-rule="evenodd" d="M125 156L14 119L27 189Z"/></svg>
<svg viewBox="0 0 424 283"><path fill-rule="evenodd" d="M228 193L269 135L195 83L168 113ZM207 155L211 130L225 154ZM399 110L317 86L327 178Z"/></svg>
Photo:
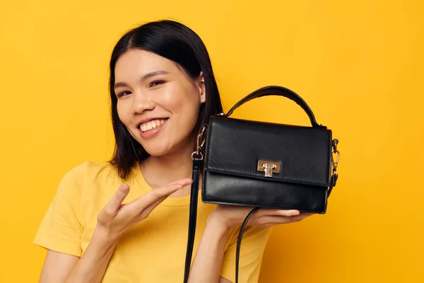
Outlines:
<svg viewBox="0 0 424 283"><path fill-rule="evenodd" d="M114 156L61 180L35 237L48 250L40 282L182 282L194 137L223 110L206 47L174 21L130 30L112 52L110 99ZM237 227L249 211L199 202L189 282L234 282ZM305 216L252 217L240 282L257 282L269 226Z"/></svg>

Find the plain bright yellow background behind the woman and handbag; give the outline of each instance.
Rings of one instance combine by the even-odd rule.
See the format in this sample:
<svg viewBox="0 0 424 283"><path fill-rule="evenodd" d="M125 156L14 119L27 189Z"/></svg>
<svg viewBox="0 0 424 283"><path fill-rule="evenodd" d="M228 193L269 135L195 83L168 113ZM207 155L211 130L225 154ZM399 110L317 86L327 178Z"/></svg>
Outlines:
<svg viewBox="0 0 424 283"><path fill-rule="evenodd" d="M261 282L424 282L422 1L2 1L0 282L37 282L31 242L66 171L112 153L112 47L174 18L202 37L228 110L261 86L340 140L324 216L278 226ZM308 125L283 98L234 117Z"/></svg>

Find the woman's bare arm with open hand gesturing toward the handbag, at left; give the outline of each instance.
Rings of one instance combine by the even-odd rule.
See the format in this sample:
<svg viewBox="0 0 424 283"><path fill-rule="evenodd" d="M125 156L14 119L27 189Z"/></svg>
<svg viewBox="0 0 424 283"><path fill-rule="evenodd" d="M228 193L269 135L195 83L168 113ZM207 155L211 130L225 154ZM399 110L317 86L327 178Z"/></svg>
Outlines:
<svg viewBox="0 0 424 283"><path fill-rule="evenodd" d="M129 186L119 187L98 215L98 225L81 258L49 250L40 283L100 283L112 258L119 237L145 219L153 209L173 192L192 183L183 179L160 187L128 204L122 204Z"/></svg>

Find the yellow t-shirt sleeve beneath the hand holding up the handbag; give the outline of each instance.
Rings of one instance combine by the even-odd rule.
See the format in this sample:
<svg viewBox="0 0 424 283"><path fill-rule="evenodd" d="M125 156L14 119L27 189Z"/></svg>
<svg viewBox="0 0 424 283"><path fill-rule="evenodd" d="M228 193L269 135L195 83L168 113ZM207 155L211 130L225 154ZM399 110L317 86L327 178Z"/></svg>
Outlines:
<svg viewBox="0 0 424 283"><path fill-rule="evenodd" d="M239 229L234 231L230 245L225 250L221 277L235 282L235 250ZM261 271L262 257L271 228L247 227L240 246L240 283L257 283Z"/></svg>

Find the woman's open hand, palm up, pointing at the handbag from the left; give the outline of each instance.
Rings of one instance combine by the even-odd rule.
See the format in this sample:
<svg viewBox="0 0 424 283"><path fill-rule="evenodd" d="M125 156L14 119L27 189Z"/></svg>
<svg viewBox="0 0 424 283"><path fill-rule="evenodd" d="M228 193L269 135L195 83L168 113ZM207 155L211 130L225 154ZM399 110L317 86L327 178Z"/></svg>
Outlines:
<svg viewBox="0 0 424 283"><path fill-rule="evenodd" d="M110 240L117 240L124 231L146 219L160 202L192 182L192 179L189 178L178 180L165 187L155 188L127 204L122 204L122 202L129 193L129 185L121 185L98 214L96 229L100 229L103 236Z"/></svg>

